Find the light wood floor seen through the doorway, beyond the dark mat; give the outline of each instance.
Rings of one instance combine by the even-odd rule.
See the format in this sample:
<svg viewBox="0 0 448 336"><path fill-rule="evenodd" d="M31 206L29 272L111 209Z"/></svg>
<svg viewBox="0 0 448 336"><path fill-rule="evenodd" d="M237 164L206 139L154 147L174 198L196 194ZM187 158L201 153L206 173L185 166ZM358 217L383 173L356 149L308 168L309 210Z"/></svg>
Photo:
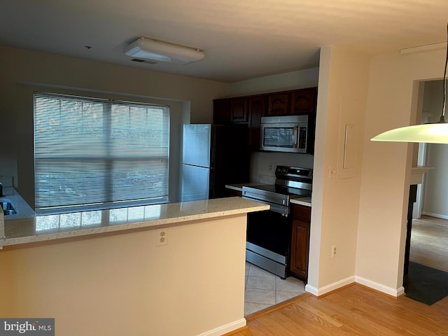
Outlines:
<svg viewBox="0 0 448 336"><path fill-rule="evenodd" d="M412 221L409 260L448 272L448 221L421 216Z"/></svg>

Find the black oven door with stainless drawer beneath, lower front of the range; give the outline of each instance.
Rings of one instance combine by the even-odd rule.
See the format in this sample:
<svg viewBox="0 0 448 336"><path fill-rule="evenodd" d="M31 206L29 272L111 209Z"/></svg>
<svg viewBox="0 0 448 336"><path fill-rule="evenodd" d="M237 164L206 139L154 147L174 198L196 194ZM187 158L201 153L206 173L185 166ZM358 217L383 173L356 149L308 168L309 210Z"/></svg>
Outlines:
<svg viewBox="0 0 448 336"><path fill-rule="evenodd" d="M285 279L290 259L290 216L269 210L247 216L246 260Z"/></svg>

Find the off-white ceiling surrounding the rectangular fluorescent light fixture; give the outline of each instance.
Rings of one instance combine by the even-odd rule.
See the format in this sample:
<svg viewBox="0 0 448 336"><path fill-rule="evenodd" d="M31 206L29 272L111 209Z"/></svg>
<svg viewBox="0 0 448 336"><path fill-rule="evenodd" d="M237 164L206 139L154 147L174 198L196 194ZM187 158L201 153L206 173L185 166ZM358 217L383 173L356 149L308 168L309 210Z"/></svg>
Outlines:
<svg viewBox="0 0 448 336"><path fill-rule="evenodd" d="M0 45L232 83L318 66L322 45L368 53L447 41L447 0L1 0ZM140 36L204 50L132 62ZM92 48L86 48L90 46Z"/></svg>

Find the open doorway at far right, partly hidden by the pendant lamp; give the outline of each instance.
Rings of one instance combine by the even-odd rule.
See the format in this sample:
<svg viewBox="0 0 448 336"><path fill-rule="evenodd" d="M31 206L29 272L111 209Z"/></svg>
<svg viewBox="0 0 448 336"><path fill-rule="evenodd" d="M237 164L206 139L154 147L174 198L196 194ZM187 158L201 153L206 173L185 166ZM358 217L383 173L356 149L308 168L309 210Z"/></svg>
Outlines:
<svg viewBox="0 0 448 336"><path fill-rule="evenodd" d="M422 85L421 123L435 122L442 111L443 82L432 80ZM421 184L410 188L403 286L407 296L433 304L448 295L448 263L444 263L448 257L448 209L444 202L448 200L448 179L444 176L448 146L419 144L416 165L433 169L426 172Z"/></svg>

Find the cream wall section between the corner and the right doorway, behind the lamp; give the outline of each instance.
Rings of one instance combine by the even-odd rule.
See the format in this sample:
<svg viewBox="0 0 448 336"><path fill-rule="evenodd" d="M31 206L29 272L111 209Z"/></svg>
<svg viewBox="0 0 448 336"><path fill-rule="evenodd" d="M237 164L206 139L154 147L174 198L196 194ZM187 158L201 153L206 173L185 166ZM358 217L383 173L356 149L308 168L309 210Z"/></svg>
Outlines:
<svg viewBox="0 0 448 336"><path fill-rule="evenodd" d="M444 51L382 55L370 64L360 190L356 276L397 295L402 292L407 202L413 146L370 141L416 124L419 81L442 77Z"/></svg>

